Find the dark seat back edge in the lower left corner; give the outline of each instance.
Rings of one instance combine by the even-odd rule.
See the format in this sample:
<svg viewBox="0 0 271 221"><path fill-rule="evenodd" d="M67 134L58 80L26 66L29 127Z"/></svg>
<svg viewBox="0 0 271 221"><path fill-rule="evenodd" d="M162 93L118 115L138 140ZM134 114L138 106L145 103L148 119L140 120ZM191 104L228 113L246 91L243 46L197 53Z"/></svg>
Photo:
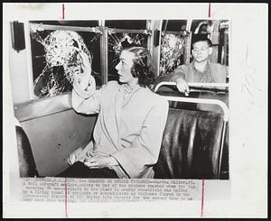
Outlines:
<svg viewBox="0 0 271 221"><path fill-rule="evenodd" d="M21 126L16 125L17 150L19 155L20 177L38 177L33 152L27 135Z"/></svg>

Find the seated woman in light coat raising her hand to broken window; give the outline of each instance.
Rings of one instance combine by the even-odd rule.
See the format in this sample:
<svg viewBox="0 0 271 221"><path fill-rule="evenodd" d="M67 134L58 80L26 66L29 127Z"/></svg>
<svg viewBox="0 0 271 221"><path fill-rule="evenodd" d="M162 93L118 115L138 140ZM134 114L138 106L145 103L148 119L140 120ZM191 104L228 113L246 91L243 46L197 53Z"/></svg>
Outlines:
<svg viewBox="0 0 271 221"><path fill-rule="evenodd" d="M75 78L72 106L78 113L98 113L94 141L71 154L61 177L153 178L168 102L148 86L154 81L149 51L132 47L121 52L116 66L119 82L96 90L88 56L79 52L83 73Z"/></svg>

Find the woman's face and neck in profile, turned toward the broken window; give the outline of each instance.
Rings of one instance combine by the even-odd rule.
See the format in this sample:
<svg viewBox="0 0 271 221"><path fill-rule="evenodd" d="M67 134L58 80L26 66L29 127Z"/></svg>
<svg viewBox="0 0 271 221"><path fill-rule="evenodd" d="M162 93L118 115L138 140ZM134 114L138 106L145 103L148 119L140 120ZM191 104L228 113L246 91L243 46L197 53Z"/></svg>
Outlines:
<svg viewBox="0 0 271 221"><path fill-rule="evenodd" d="M136 83L138 78L134 78L131 73L131 68L134 65L134 53L130 51L122 51L119 56L119 63L116 66L119 81L121 83Z"/></svg>

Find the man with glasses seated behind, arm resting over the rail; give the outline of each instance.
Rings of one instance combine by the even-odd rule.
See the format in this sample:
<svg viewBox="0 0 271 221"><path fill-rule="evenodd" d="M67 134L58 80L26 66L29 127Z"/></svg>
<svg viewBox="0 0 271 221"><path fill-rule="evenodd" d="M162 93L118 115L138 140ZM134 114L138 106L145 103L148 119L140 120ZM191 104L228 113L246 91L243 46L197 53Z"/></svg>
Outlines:
<svg viewBox="0 0 271 221"><path fill-rule="evenodd" d="M226 83L227 68L210 62L212 43L205 35L195 35L192 41L193 60L174 70L169 81L177 83L180 92L188 96L187 82Z"/></svg>

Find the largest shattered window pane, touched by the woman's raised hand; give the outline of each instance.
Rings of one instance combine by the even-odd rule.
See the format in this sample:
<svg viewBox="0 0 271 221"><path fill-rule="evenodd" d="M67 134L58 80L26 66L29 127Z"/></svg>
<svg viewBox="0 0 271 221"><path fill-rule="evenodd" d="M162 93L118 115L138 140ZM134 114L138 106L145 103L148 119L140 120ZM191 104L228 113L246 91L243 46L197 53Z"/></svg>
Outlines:
<svg viewBox="0 0 271 221"><path fill-rule="evenodd" d="M99 34L66 30L30 32L33 60L33 92L36 98L70 92L80 72L79 50L89 55L92 75L100 84Z"/></svg>

